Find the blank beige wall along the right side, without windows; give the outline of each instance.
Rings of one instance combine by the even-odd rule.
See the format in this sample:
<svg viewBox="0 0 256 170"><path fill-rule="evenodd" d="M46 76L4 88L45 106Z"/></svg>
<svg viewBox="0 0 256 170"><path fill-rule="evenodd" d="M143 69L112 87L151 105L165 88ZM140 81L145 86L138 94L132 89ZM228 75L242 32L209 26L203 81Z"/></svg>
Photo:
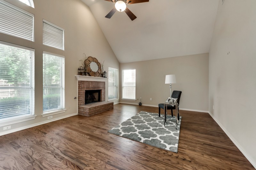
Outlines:
<svg viewBox="0 0 256 170"><path fill-rule="evenodd" d="M255 9L255 0L219 2L209 54L209 110L256 168Z"/></svg>

